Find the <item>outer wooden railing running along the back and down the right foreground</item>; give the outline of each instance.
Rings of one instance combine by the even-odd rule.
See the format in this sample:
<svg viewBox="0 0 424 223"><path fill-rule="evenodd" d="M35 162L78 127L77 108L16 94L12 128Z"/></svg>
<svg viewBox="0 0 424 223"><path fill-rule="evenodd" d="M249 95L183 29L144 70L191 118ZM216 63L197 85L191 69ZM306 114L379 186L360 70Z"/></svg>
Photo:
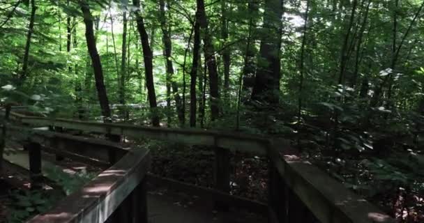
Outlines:
<svg viewBox="0 0 424 223"><path fill-rule="evenodd" d="M101 134L149 137L183 144L213 146L216 162L215 189L225 194L229 192L229 151L268 155L270 222L395 222L393 218L347 190L341 183L309 162L282 155L284 149L280 149L282 146L272 139L211 130L149 128L16 115L15 120L25 125L53 125ZM220 198L223 197L225 196Z"/></svg>

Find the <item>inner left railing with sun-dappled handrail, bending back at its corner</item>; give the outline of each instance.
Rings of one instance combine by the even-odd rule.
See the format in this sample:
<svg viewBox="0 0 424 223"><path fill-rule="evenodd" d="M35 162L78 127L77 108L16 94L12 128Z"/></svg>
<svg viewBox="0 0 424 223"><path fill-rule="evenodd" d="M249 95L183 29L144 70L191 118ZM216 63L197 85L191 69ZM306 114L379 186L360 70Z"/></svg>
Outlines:
<svg viewBox="0 0 424 223"><path fill-rule="evenodd" d="M70 137L56 132L8 128L9 134L20 136L25 141L24 148L29 151L29 172L31 189L42 186L41 151L66 155L83 162L105 165L98 160L69 152L75 144L91 150L111 150L117 145L96 139ZM54 146L54 147L52 147ZM57 146L57 147L56 147ZM147 222L146 174L151 157L145 149L116 149L122 157L81 190L70 194L55 208L33 217L27 223L45 222ZM125 153L125 154L123 154Z"/></svg>

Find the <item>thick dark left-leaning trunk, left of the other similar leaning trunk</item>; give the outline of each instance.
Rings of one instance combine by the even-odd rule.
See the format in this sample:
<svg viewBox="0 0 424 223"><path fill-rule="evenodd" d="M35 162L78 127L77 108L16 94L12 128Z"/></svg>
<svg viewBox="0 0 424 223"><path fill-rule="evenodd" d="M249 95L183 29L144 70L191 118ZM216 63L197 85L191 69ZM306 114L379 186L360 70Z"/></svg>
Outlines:
<svg viewBox="0 0 424 223"><path fill-rule="evenodd" d="M109 99L107 98L105 83L103 82L102 63L100 62L100 56L98 55L96 47L96 38L93 31L93 16L91 15L89 4L86 1L81 1L80 6L84 16L86 44L91 57L94 78L96 79L98 101L100 103L100 109L102 110L103 121L109 123L112 122L112 116L109 108Z"/></svg>

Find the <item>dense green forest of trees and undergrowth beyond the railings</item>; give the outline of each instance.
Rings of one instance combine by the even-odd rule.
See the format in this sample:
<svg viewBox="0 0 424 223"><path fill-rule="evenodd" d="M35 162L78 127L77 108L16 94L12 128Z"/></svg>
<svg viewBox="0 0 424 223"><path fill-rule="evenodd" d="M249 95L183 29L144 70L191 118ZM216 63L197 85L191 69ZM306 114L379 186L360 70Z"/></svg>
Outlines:
<svg viewBox="0 0 424 223"><path fill-rule="evenodd" d="M0 0L2 108L281 139L398 222L424 222L423 58L423 0Z"/></svg>

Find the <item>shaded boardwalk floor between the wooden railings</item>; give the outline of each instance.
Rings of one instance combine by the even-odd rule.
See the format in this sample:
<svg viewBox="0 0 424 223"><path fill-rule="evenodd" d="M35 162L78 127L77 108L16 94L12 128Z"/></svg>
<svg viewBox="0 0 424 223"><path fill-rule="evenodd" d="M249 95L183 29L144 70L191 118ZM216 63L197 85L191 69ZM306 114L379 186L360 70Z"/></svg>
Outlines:
<svg viewBox="0 0 424 223"><path fill-rule="evenodd" d="M60 165L60 162L54 162L51 158L45 158L43 155L43 166L54 165L63 169L68 174L73 174L77 169L84 169L84 165L77 163L75 167L69 164ZM49 157L47 155L47 157ZM5 160L16 164L17 166L29 169L28 152L23 150L4 156ZM51 167L51 166L50 166ZM77 169L75 169L77 168ZM45 175L45 174L43 174ZM46 176L46 175L45 175ZM257 215L248 215L248 213L219 213L213 210L212 201L204 201L198 197L190 196L182 192L175 192L169 188L149 187L148 192L148 210L149 223L168 223L168 222L186 222L186 223L241 223L241 222L267 222L264 217Z"/></svg>

